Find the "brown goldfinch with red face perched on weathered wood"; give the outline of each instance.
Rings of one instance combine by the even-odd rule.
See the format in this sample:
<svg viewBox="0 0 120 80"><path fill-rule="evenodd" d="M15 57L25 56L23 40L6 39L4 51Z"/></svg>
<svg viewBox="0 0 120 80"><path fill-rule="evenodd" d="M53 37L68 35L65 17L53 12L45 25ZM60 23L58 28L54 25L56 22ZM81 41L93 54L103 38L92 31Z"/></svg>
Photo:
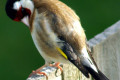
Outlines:
<svg viewBox="0 0 120 80"><path fill-rule="evenodd" d="M79 16L59 0L7 0L6 14L28 26L45 65L74 64L87 78L109 80L97 67ZM58 65L58 64L57 64Z"/></svg>

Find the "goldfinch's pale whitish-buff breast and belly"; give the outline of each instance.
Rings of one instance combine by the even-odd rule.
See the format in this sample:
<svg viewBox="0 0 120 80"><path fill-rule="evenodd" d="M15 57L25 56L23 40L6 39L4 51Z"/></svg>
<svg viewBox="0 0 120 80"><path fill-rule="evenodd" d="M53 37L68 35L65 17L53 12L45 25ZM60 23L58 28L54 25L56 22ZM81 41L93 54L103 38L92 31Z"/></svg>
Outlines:
<svg viewBox="0 0 120 80"><path fill-rule="evenodd" d="M44 20L44 21L43 21ZM42 23L40 23L40 21L42 21ZM44 23L43 23L44 22ZM44 24L44 26L41 26L40 24ZM42 14L38 14L37 11L36 11L36 17L34 19L34 22L33 22L33 30L31 32L31 35L32 35L32 38L33 38L33 41L35 43L35 46L37 47L39 53L41 54L41 56L46 60L46 61L58 61L58 62L61 62L59 60L64 60L63 57L59 57L59 53L56 52L56 50L54 51L54 49L56 49L56 46L61 46L61 45L58 45L57 42L60 42L60 40L57 38L57 35L52 31L51 25L49 24L49 21L46 17L44 17L44 15ZM43 28L44 27L44 28ZM43 29L45 31L43 31ZM40 35L38 35L38 32L40 33ZM42 36L42 37L41 37ZM43 45L43 44L40 44L42 43L42 38L45 37L43 43L47 43L48 45L51 46L51 48L47 48L47 50L49 51L49 54L53 54L55 56L58 56L58 60L55 60L54 57L51 57L50 55L48 55L47 51L43 50L43 46L48 46L48 45ZM39 39L38 39L39 38ZM38 41L40 40L40 41ZM47 54L46 54L47 53ZM59 58L62 58L62 59L59 59ZM63 61L64 62L64 61Z"/></svg>

